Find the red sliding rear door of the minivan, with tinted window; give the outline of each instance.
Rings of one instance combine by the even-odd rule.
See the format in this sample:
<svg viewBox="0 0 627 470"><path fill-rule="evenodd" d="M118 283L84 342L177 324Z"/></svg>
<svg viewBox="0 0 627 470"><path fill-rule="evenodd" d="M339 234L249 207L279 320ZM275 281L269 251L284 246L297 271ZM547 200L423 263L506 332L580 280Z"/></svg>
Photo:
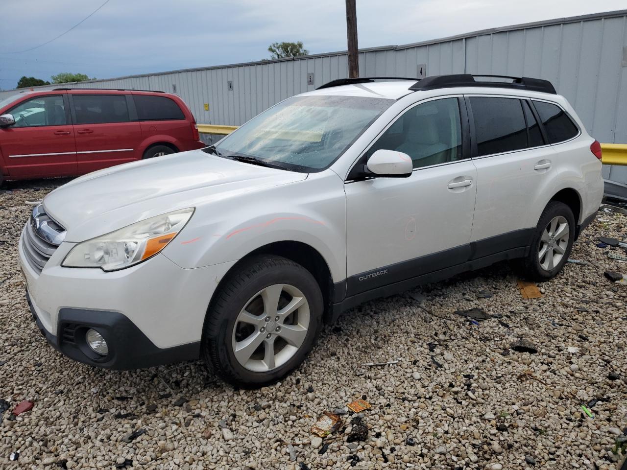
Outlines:
<svg viewBox="0 0 627 470"><path fill-rule="evenodd" d="M68 96L79 174L141 158L142 130L131 116L130 95L72 90Z"/></svg>

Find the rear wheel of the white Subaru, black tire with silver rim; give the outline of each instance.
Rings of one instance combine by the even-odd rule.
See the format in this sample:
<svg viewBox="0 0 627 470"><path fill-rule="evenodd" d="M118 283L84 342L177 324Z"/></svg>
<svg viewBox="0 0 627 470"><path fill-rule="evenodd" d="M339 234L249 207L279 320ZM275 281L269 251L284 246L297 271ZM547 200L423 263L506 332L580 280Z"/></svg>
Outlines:
<svg viewBox="0 0 627 470"><path fill-rule="evenodd" d="M551 237L554 234L552 224L555 224L557 234L561 234L561 237ZM567 234L563 232L566 227L564 224L567 224ZM571 255L575 229L575 217L572 215L571 208L563 202L549 202L535 227L529 254L517 260L514 264L515 270L531 281L542 282L554 278ZM544 250L542 258L540 258L540 250ZM563 253L560 253L561 251ZM553 258L549 258L551 253L554 254Z"/></svg>

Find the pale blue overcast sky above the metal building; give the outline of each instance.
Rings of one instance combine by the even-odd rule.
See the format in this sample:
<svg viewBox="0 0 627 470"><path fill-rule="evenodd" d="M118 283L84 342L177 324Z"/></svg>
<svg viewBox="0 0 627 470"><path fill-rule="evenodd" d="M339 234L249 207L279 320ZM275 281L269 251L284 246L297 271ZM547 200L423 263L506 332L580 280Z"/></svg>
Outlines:
<svg viewBox="0 0 627 470"><path fill-rule="evenodd" d="M275 41L346 49L344 0L0 0L0 89L63 71L97 78L269 58ZM624 0L357 0L359 47L626 8Z"/></svg>

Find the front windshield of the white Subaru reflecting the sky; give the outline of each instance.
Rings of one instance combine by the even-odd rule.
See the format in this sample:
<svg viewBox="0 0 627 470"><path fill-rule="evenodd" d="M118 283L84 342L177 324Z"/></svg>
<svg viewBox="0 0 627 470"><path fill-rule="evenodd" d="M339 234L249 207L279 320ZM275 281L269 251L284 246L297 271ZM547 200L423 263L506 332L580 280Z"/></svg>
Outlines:
<svg viewBox="0 0 627 470"><path fill-rule="evenodd" d="M216 145L223 157L255 157L276 167L329 167L390 107L384 98L310 95L278 103Z"/></svg>

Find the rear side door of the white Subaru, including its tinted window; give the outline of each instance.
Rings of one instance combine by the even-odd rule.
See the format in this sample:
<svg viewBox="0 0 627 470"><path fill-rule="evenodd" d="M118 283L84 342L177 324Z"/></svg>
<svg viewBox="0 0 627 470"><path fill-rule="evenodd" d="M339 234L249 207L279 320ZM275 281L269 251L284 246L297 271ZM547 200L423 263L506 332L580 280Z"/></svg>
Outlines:
<svg viewBox="0 0 627 470"><path fill-rule="evenodd" d="M467 96L477 167L472 228L475 258L529 244L535 207L551 177L554 150L545 143L529 100ZM532 210L533 209L533 210ZM540 209L541 211L542 209Z"/></svg>

